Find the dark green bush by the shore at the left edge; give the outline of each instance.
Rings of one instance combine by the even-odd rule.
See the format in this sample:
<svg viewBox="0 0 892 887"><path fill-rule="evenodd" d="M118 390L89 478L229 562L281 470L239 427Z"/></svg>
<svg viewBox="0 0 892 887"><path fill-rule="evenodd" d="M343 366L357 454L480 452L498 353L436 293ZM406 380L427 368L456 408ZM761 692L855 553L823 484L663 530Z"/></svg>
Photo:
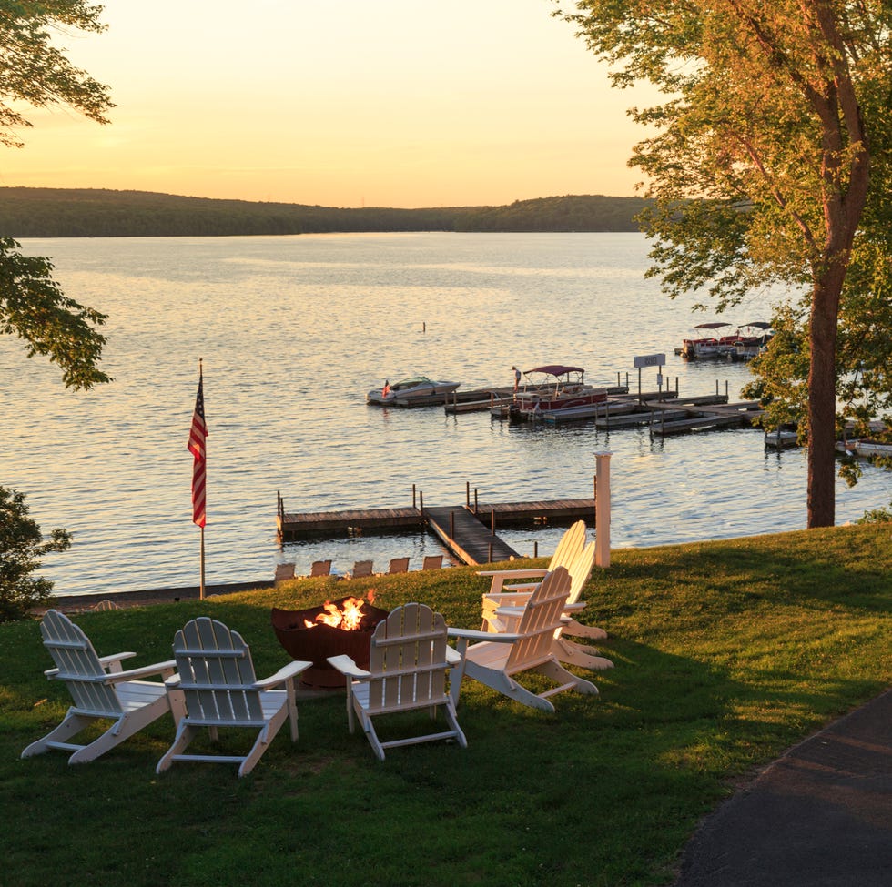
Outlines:
<svg viewBox="0 0 892 887"><path fill-rule="evenodd" d="M64 529L54 529L44 541L28 512L24 493L0 487L0 622L22 619L28 610L46 604L53 583L31 574L40 569L46 553L71 546Z"/></svg>

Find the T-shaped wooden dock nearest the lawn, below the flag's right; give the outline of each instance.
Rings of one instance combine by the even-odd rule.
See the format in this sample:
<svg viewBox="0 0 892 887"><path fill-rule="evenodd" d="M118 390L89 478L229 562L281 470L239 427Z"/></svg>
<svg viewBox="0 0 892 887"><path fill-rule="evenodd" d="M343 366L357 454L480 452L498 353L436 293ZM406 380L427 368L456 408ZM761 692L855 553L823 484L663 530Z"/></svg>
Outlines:
<svg viewBox="0 0 892 887"><path fill-rule="evenodd" d="M594 499L548 499L533 502L463 505L423 509L345 509L341 511L286 512L278 497L279 540L293 542L309 537L333 537L366 530L421 529L435 533L463 563L481 564L519 558L496 535L502 526L533 524L547 526L569 520L594 523Z"/></svg>

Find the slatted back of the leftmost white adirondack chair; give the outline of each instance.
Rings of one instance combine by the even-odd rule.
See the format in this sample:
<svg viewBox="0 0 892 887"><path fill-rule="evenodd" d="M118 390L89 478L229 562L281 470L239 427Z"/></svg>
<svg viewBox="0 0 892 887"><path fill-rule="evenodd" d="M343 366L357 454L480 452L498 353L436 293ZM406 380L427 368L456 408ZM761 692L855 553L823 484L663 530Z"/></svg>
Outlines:
<svg viewBox="0 0 892 887"><path fill-rule="evenodd" d="M106 670L83 630L65 613L47 610L40 623L40 633L58 669L54 677L65 681L75 708L120 717L124 709L117 692L106 682Z"/></svg>

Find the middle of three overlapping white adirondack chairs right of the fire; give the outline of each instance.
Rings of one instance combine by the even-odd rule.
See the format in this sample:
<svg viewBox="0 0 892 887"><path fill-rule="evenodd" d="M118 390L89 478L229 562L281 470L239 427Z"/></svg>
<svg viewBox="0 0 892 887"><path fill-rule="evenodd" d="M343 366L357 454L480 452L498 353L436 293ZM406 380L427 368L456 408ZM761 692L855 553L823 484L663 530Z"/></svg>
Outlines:
<svg viewBox="0 0 892 887"><path fill-rule="evenodd" d="M598 655L598 650L584 644L577 644L573 640L563 637L564 634L574 632L573 626L579 625L573 619L573 612L585 607L584 601L579 600L585 583L592 575L594 566L594 542L589 542L579 552L573 562L567 565L570 573L570 594L567 596L567 604L563 610L562 627L554 632L552 653L558 660L567 665L577 665L584 669L603 670L612 669L613 662ZM535 585L515 586L516 588L529 588L530 590L502 591L498 594L483 595L483 630L486 631L514 631L520 622L523 607L535 590ZM581 626L590 629L590 626ZM606 632L602 629L594 629L598 632Z"/></svg>

